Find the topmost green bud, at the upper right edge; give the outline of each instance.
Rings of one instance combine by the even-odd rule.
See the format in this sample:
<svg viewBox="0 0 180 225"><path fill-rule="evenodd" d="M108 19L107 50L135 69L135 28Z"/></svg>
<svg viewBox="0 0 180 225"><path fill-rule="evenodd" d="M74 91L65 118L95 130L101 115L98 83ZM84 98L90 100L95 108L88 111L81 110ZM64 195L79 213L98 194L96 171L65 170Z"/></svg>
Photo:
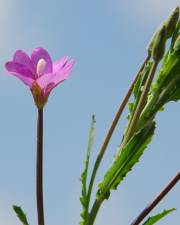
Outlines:
<svg viewBox="0 0 180 225"><path fill-rule="evenodd" d="M176 28L179 20L179 6L177 6L170 14L169 18L164 22L167 31L167 39L170 38Z"/></svg>

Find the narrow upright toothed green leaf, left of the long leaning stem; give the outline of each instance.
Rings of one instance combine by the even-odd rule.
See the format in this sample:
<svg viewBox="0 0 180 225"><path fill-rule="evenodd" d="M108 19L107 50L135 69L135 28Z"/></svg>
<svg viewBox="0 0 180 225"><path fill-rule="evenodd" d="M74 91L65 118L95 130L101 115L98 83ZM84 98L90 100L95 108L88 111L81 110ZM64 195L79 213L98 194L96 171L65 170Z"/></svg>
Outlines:
<svg viewBox="0 0 180 225"><path fill-rule="evenodd" d="M81 212L81 218L82 221L80 222L81 225L85 223L85 219L87 217L88 209L87 209L87 175L88 175L88 167L89 167L89 159L90 159L90 154L91 154L91 149L94 143L94 126L95 126L95 116L92 115L92 120L91 120L91 127L89 131L89 140L88 140L88 146L87 146L87 151L86 151L86 159L84 162L84 169L81 175L81 183L82 183L82 192L81 192L81 197L80 201L82 204L82 212Z"/></svg>

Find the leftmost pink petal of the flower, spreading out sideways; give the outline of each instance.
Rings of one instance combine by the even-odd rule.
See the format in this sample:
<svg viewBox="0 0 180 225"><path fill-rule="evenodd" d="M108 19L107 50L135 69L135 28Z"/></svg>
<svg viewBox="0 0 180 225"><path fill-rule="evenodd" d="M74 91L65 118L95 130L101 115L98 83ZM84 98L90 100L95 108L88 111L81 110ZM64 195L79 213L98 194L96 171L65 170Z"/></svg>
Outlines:
<svg viewBox="0 0 180 225"><path fill-rule="evenodd" d="M25 66L15 62L7 62L5 64L5 67L10 74L18 77L29 87L32 86L32 83L34 82L34 79L32 78L32 73L31 71L27 70Z"/></svg>

